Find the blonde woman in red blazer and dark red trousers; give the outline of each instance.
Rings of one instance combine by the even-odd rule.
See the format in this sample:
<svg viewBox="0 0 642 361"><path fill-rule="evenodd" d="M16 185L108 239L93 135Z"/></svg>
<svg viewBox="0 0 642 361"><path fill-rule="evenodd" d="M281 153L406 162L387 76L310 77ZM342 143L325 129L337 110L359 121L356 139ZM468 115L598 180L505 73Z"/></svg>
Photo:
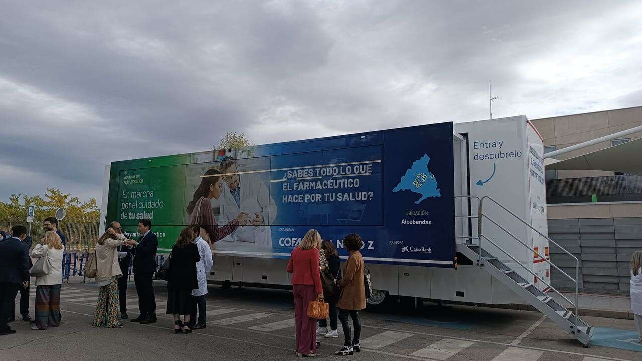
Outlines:
<svg viewBox="0 0 642 361"><path fill-rule="evenodd" d="M321 235L310 229L299 247L292 251L288 272L292 275L295 322L297 330L297 356L317 356L317 320L308 317L308 303L323 300L319 249Z"/></svg>

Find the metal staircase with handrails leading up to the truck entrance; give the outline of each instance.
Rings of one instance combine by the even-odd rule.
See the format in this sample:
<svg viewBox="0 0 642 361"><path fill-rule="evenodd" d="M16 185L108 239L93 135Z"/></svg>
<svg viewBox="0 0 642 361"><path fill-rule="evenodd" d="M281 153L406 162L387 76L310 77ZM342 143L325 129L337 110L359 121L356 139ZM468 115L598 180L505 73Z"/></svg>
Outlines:
<svg viewBox="0 0 642 361"><path fill-rule="evenodd" d="M577 277L579 274L579 261L573 254L570 252L566 251L564 248L560 247L557 243L555 243L553 240L548 238L545 234L542 234L540 231L535 229L531 224L523 220L520 216L517 216L515 213L507 209L506 207L502 206L494 200L491 197L476 197L476 196L457 196L455 198L469 198L471 200L476 199L479 202L478 206L478 215L473 216L473 215L458 215L458 217L461 218L477 218L478 219L478 235L474 236L473 234L469 234L467 236L457 236L458 238L465 238L468 243L457 243L457 251L461 252L471 260L475 261L477 265L488 272L490 276L494 277L497 279L499 282L501 282L503 285L507 286L508 289L512 290L516 295L521 297L524 301L526 301L528 304L531 306L534 306L539 312L542 314L546 315L551 321L555 322L560 328L563 330L566 330L570 335L573 335L575 339L577 339L579 342L584 344L585 346L589 343L591 340L591 337L593 336L593 330L589 324L586 322L580 320L577 317L577 309L578 309L578 282L577 282ZM517 220L521 221L521 223L525 224L527 227L532 229L533 231L539 233L541 236L546 238L550 244L556 245L562 251L566 252L571 256L576 261L576 274L575 278L569 276L566 274L566 272L562 271L557 267L556 265L553 265L550 260L546 259L545 256L539 254L537 251L533 251L539 258L542 260L546 261L549 263L551 267L554 269L558 270L563 274L564 276L568 277L575 283L575 303L569 301L568 298L564 297L564 295L560 294L553 286L551 286L549 283L547 283L544 279L541 277L537 276L532 270L530 270L528 267L526 267L523 263L519 262L512 254L509 254L505 249L502 247L499 247L499 245L491 240L489 237L485 236L483 233L483 221L487 220L490 223L496 225L499 227L499 229L503 230L508 236L511 238L514 238L518 243L521 243L524 247L528 248L530 251L530 247L526 245L526 243L522 242L515 236L514 234L510 233L508 229L503 227L502 225L498 224L495 220L490 218L487 214L483 212L483 204L484 202L492 202L496 206L499 206L501 209L509 213L510 215L514 216L517 218ZM477 243L477 244L475 244ZM539 279L539 281L542 281L544 285L550 288L550 291L555 292L556 294L560 295L562 299L564 299L566 302L571 304L572 308L575 308L575 312L571 312L567 310L566 307L562 306L561 304L557 303L552 297L546 295L544 292L539 290L537 286L534 285L534 283L530 283L528 280L526 280L524 277L520 276L515 272L514 269L511 269L505 263L500 261L498 259L499 255L492 255L489 252L487 252L485 249L483 249L484 244L491 244L496 249L499 251L503 252L508 258L513 260L514 262L519 265L522 269L526 270L526 272L532 274L535 279ZM548 291L548 292L550 292Z"/></svg>

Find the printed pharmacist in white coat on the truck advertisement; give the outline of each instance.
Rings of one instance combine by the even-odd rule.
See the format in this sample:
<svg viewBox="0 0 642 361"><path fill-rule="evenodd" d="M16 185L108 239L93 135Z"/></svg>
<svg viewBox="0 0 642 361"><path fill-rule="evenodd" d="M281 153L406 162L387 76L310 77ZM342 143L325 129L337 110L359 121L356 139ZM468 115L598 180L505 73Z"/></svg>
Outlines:
<svg viewBox="0 0 642 361"><path fill-rule="evenodd" d="M270 224L277 216L277 206L260 173L242 174L236 160L225 157L219 166L223 175L219 223L226 224L239 212L247 212L248 224L216 243L220 251L272 252ZM241 173L241 174L239 174Z"/></svg>

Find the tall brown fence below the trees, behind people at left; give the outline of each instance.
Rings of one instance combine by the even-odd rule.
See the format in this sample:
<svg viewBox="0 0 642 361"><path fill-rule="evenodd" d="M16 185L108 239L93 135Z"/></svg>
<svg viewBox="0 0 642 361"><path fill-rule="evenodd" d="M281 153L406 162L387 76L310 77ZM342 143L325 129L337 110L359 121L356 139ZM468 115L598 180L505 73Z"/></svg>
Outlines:
<svg viewBox="0 0 642 361"><path fill-rule="evenodd" d="M0 219L0 229L11 229L13 225L22 224L28 227L23 220L3 220ZM65 251L70 252L91 252L96 245L100 234L100 218L65 218L58 224L58 229L65 235ZM42 220L34 219L31 223L31 237L33 240L40 240L44 236L44 227Z"/></svg>

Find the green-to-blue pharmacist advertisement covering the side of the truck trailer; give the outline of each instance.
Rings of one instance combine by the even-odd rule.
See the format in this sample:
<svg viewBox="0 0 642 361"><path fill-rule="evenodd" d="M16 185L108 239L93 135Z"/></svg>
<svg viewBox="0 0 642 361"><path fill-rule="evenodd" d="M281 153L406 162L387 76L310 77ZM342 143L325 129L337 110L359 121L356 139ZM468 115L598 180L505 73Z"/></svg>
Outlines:
<svg viewBox="0 0 642 361"><path fill-rule="evenodd" d="M369 262L453 267L453 123L112 163L107 222L159 252L198 224L219 254L286 258L311 228L342 256L361 235ZM247 214L231 234L218 227Z"/></svg>

